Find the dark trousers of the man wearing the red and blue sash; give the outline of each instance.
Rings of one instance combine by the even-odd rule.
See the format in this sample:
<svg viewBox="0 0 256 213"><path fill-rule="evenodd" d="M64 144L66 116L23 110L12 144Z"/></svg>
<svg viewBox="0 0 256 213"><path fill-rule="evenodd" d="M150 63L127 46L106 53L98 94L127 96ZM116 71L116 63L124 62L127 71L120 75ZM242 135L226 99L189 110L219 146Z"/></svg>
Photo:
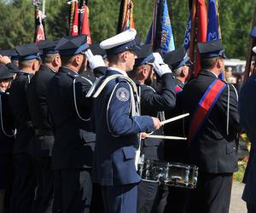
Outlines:
<svg viewBox="0 0 256 213"><path fill-rule="evenodd" d="M232 173L199 172L195 189L186 194L186 213L229 213Z"/></svg>

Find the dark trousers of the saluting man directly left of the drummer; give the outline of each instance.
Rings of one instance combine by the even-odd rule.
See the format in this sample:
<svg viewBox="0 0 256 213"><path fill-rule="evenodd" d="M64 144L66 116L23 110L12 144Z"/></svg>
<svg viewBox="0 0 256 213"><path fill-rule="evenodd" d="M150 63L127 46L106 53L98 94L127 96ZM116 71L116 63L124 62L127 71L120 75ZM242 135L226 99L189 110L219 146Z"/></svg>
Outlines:
<svg viewBox="0 0 256 213"><path fill-rule="evenodd" d="M53 213L89 213L92 182L89 170L55 170Z"/></svg>

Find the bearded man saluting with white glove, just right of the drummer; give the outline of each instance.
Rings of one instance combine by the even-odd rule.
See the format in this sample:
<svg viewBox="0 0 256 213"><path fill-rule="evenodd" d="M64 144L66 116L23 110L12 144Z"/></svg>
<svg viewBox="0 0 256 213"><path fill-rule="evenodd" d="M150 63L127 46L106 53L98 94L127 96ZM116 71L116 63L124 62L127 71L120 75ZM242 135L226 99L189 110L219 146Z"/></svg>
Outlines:
<svg viewBox="0 0 256 213"><path fill-rule="evenodd" d="M175 81L171 69L164 64L159 53L152 53L149 45L143 45L136 51L137 59L131 72L141 95L141 113L160 120L165 119L165 110L175 107ZM156 58L154 58L154 55ZM161 79L161 90L157 93L149 85L156 72ZM164 135L163 130L155 130L153 135ZM164 160L164 140L146 138L142 141L142 153L145 159ZM138 185L137 212L163 212L167 191L159 183L142 181Z"/></svg>

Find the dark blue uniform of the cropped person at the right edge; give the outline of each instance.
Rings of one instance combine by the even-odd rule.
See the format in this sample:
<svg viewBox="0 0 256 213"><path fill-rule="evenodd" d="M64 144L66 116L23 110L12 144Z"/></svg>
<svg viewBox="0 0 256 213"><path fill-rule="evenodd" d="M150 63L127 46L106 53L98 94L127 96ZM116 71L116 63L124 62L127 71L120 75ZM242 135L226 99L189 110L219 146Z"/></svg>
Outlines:
<svg viewBox="0 0 256 213"><path fill-rule="evenodd" d="M255 29L256 31L256 29ZM246 134L251 141L250 157L247 164L247 176L245 179L246 186L244 188L242 199L247 202L248 213L253 213L256 211L256 119L255 119L255 104L256 101L253 99L256 88L256 74L253 74L247 79L241 88L241 93L239 96L239 115L241 125L246 131Z"/></svg>

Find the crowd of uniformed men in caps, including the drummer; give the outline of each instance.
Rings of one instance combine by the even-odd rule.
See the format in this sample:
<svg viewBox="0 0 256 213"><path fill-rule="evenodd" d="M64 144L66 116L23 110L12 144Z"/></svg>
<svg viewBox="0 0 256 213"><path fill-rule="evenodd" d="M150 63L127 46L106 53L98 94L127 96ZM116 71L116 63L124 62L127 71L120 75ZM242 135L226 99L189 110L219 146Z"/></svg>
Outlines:
<svg viewBox="0 0 256 213"><path fill-rule="evenodd" d="M222 43L198 44L201 72L186 83L183 48L162 57L135 37L130 29L100 45L81 35L0 52L1 213L229 212L241 125L236 89L218 80ZM207 92L216 95L200 120ZM138 147L152 162L198 166L195 189L142 181Z"/></svg>

